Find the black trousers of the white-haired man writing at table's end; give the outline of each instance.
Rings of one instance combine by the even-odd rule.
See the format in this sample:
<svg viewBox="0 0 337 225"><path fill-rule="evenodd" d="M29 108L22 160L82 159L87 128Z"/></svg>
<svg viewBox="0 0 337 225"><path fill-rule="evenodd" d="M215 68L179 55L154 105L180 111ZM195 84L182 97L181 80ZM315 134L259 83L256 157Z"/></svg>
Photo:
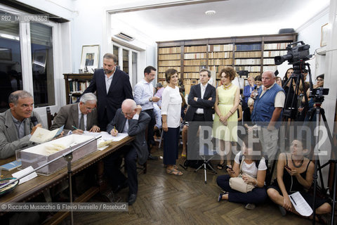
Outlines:
<svg viewBox="0 0 337 225"><path fill-rule="evenodd" d="M137 152L133 146L123 146L117 152L112 153L104 160L105 174L112 180L112 187L116 188L118 185L126 181L126 177L121 172L122 156L124 156L124 167L128 171L128 194L137 194L138 191L138 177L137 177Z"/></svg>

